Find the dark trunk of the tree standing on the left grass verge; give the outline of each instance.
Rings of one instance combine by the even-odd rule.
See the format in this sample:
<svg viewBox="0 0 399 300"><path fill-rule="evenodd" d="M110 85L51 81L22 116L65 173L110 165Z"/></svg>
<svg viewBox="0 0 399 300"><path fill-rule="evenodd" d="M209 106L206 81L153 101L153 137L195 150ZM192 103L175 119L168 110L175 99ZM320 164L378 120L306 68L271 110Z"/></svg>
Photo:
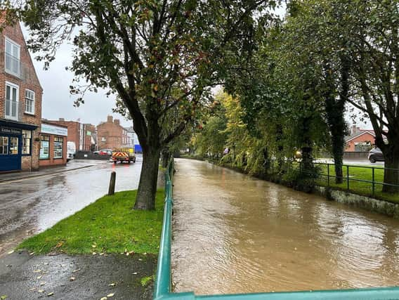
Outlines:
<svg viewBox="0 0 399 300"><path fill-rule="evenodd" d="M136 202L133 209L155 209L155 195L157 193L157 178L159 169L160 149L143 148L143 165L141 167L140 182Z"/></svg>

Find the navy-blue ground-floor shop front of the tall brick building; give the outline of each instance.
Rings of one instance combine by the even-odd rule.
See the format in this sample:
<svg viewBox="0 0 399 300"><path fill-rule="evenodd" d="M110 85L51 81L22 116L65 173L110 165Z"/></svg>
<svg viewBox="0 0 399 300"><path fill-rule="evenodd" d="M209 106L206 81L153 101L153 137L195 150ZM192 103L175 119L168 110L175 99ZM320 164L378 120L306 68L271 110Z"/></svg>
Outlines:
<svg viewBox="0 0 399 300"><path fill-rule="evenodd" d="M22 160L32 160L32 136L37 126L0 120L0 172L20 171Z"/></svg>

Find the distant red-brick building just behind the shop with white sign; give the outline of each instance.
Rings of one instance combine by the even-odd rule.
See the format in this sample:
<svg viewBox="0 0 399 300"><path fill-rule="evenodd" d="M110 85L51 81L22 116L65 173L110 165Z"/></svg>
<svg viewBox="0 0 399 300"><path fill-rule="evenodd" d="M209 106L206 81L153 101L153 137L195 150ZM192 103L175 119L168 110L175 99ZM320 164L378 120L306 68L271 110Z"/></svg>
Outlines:
<svg viewBox="0 0 399 300"><path fill-rule="evenodd" d="M74 143L77 151L93 151L96 148L96 126L92 124L81 124L79 121L46 120L54 125L66 126L68 129L67 141Z"/></svg>

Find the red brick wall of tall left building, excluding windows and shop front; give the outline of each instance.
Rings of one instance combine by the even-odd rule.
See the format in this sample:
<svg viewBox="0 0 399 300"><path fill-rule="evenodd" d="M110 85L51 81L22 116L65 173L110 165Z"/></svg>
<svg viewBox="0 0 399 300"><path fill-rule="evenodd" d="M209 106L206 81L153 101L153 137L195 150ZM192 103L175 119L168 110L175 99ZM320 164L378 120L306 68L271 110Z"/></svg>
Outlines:
<svg viewBox="0 0 399 300"><path fill-rule="evenodd" d="M8 74L4 70L6 37L20 46L20 77ZM39 169L40 142L34 141L39 137L41 120L41 96L43 90L34 70L30 53L27 51L25 39L19 24L8 26L0 32L0 119L4 119L6 98L6 81L18 85L18 121L38 126L32 134L32 157L22 157L22 170ZM34 115L25 113L25 89L34 91Z"/></svg>

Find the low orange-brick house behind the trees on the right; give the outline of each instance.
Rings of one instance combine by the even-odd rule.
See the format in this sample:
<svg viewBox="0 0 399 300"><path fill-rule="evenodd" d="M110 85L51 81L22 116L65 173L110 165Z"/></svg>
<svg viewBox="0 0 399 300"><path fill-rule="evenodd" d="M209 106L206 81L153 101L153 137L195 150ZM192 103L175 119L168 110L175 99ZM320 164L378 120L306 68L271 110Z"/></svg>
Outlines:
<svg viewBox="0 0 399 300"><path fill-rule="evenodd" d="M345 137L345 152L367 152L374 145L374 138L373 130L360 129L353 125L351 135Z"/></svg>

